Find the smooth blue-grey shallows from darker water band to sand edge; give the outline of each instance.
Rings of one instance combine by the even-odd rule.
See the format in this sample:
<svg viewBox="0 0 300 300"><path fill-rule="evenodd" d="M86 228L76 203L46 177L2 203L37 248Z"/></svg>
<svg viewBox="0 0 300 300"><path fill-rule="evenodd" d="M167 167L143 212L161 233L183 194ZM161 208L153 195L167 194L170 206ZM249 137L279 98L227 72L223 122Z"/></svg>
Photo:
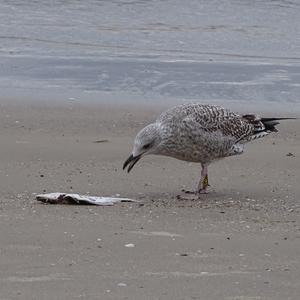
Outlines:
<svg viewBox="0 0 300 300"><path fill-rule="evenodd" d="M7 58L1 101L160 106L217 104L253 112L300 112L299 65L162 62L103 57Z"/></svg>

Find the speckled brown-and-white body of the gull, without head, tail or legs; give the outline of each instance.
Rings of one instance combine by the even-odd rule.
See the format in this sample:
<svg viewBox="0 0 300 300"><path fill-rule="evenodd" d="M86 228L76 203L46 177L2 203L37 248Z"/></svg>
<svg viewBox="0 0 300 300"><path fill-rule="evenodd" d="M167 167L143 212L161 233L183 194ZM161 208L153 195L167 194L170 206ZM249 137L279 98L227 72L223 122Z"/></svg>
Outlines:
<svg viewBox="0 0 300 300"><path fill-rule="evenodd" d="M253 122L213 105L176 106L156 123L162 132L160 154L202 164L241 153L255 132Z"/></svg>

